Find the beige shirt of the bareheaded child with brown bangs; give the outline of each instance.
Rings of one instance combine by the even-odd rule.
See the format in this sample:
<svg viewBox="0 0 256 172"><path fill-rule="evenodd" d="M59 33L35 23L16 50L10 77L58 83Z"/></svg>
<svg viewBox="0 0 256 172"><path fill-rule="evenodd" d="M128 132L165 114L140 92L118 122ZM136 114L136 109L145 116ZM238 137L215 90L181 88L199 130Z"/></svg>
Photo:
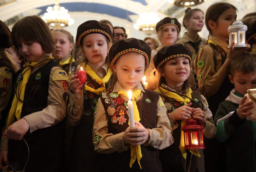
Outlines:
<svg viewBox="0 0 256 172"><path fill-rule="evenodd" d="M50 56L51 54L45 54L38 60L36 60L36 62L42 62ZM47 65L47 63L43 65ZM40 67L42 67L42 65L32 69L31 74ZM50 71L47 107L44 108L42 111L34 112L23 117L27 120L29 124L29 132L54 126L58 122L61 122L66 116L66 101L63 99L63 95L68 91L69 77L65 72L66 75L64 77L62 77L61 79L56 79L56 71L65 72L61 67L52 67ZM66 82L66 86L62 84L63 81ZM6 137L2 137L0 150L8 150L7 144L8 139Z"/></svg>

